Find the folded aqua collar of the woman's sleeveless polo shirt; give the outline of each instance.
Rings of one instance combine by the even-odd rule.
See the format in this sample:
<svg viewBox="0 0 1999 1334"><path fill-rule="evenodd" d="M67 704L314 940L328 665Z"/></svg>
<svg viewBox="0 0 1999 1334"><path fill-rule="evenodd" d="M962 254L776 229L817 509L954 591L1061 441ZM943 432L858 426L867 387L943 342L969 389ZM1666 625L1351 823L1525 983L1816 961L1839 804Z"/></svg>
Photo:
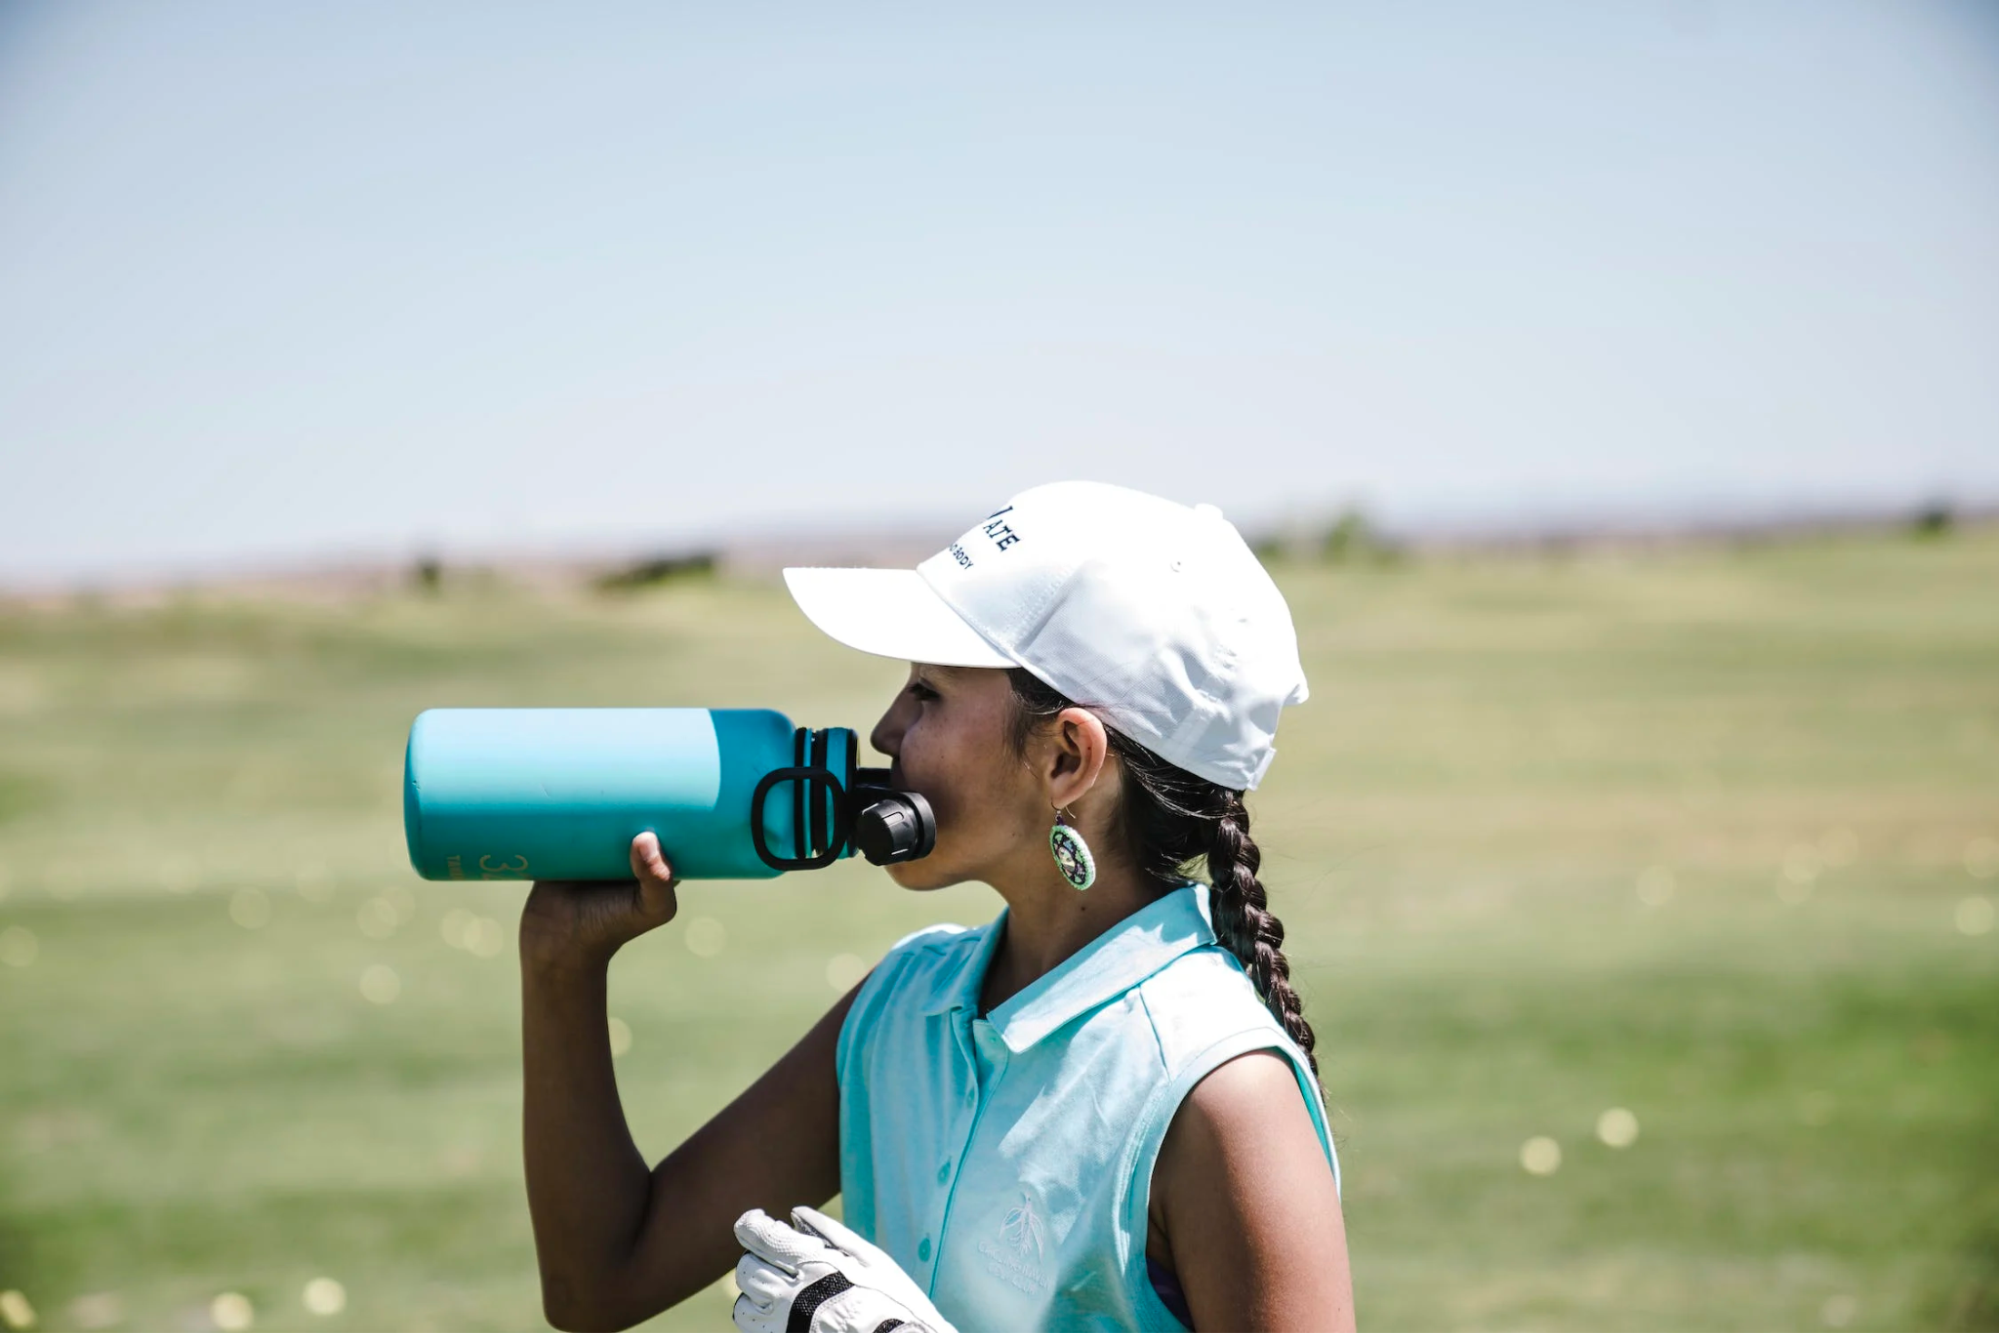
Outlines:
<svg viewBox="0 0 1999 1334"><path fill-rule="evenodd" d="M940 988L930 1014L978 1014L986 968L1000 950L1005 912L982 928L984 940L966 956L956 986ZM1207 924L1207 886L1185 884L1145 904L1123 922L1035 978L996 1008L988 1020L1011 1052L1025 1052L1069 1020L1123 996L1181 954L1213 944Z"/></svg>

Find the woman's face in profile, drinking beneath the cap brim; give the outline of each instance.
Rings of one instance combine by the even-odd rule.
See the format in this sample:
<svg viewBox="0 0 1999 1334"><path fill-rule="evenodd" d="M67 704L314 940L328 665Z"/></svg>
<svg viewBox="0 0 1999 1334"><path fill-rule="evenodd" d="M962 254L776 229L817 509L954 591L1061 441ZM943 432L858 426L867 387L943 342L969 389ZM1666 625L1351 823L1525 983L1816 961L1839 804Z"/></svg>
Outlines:
<svg viewBox="0 0 1999 1334"><path fill-rule="evenodd" d="M1031 852L1053 812L1009 744L1013 688L998 668L914 664L870 734L890 758L890 782L922 792L938 814L938 846L888 874L906 890L992 880Z"/></svg>

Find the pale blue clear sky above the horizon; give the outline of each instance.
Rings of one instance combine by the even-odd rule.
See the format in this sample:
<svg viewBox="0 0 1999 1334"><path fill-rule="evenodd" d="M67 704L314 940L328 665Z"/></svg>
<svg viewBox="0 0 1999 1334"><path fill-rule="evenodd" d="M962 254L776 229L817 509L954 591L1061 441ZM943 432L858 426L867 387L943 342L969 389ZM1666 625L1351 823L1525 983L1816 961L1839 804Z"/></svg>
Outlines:
<svg viewBox="0 0 1999 1334"><path fill-rule="evenodd" d="M0 582L1999 496L1999 10L0 4Z"/></svg>

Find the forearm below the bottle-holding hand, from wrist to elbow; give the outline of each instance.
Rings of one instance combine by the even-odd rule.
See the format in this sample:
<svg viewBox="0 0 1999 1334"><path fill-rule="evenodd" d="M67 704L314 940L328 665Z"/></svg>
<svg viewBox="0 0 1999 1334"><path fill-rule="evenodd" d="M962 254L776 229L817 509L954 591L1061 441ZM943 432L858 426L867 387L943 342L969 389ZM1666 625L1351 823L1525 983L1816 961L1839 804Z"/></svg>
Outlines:
<svg viewBox="0 0 1999 1334"><path fill-rule="evenodd" d="M522 968L528 1212L542 1306L560 1328L628 1320L652 1190L618 1102L604 998L604 964Z"/></svg>

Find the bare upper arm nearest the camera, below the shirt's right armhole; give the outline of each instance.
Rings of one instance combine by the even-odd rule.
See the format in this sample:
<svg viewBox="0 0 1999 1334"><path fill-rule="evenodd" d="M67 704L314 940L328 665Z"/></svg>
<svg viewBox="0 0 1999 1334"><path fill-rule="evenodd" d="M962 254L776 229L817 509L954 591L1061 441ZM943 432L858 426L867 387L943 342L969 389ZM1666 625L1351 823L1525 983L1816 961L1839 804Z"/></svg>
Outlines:
<svg viewBox="0 0 1999 1334"><path fill-rule="evenodd" d="M1291 1062L1249 1052L1193 1086L1151 1170L1145 1254L1197 1330L1351 1330L1333 1170Z"/></svg>

